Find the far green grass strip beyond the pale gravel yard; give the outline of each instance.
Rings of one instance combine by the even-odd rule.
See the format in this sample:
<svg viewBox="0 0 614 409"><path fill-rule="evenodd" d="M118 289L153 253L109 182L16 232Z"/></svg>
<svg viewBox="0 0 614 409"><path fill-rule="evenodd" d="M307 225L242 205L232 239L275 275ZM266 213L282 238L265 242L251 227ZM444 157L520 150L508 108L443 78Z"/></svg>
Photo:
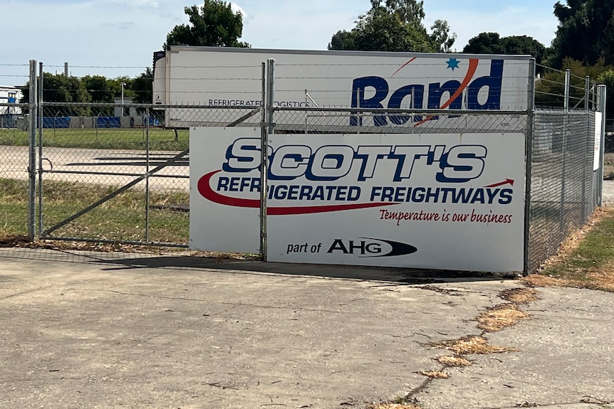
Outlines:
<svg viewBox="0 0 614 409"><path fill-rule="evenodd" d="M175 137L177 136L177 137ZM43 129L43 146L89 149L145 149L147 129ZM150 149L182 151L189 147L187 129L150 128ZM0 145L28 146L28 132L0 129Z"/></svg>

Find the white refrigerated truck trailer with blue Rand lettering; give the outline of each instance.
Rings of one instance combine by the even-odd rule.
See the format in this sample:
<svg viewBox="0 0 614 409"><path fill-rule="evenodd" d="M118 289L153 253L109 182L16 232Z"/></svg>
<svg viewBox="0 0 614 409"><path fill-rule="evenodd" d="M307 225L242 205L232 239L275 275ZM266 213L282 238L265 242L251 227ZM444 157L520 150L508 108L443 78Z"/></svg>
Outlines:
<svg viewBox="0 0 614 409"><path fill-rule="evenodd" d="M269 58L275 61L276 107L521 111L529 107L533 81L531 57L524 55L169 46L154 53L153 102L165 110L167 127L224 125L237 112L212 107L259 107L262 63ZM425 119L391 113L319 120L331 126L387 127L388 132L407 130ZM255 115L246 124L259 120ZM286 112L275 122L276 129L301 129L306 114Z"/></svg>

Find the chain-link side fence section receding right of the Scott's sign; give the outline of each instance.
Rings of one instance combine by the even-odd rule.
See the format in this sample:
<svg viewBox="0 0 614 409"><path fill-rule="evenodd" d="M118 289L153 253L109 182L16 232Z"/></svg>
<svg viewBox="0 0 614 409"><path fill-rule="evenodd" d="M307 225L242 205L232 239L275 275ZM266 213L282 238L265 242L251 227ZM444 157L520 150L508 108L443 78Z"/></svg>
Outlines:
<svg viewBox="0 0 614 409"><path fill-rule="evenodd" d="M529 271L553 255L598 205L595 113L538 110L533 135Z"/></svg>

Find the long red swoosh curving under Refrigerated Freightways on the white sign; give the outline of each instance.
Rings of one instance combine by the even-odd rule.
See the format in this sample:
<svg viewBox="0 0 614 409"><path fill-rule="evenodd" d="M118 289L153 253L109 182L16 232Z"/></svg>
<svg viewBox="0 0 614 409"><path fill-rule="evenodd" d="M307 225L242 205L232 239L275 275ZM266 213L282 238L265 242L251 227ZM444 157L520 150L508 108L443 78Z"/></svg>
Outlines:
<svg viewBox="0 0 614 409"><path fill-rule="evenodd" d="M259 208L260 201L258 199L244 199L224 196L211 188L209 182L212 177L221 172L221 170L212 171L199 179L198 191L202 197L209 201L218 203L224 206L234 206L242 208ZM399 203L351 203L343 205L323 205L323 206L291 206L291 207L269 207L266 208L266 214L270 216L283 216L292 214L311 214L311 213L328 213L332 211L346 211L360 208L374 208L393 206Z"/></svg>

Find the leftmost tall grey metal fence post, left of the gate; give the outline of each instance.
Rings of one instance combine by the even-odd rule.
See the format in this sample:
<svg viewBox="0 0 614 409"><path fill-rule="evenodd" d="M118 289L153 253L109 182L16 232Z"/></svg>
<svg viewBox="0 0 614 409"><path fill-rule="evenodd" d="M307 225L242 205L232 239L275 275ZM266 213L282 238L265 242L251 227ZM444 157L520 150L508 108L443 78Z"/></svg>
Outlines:
<svg viewBox="0 0 614 409"><path fill-rule="evenodd" d="M30 60L30 140L28 149L28 239L34 240L36 233L36 125L38 124L36 101L36 60Z"/></svg>

